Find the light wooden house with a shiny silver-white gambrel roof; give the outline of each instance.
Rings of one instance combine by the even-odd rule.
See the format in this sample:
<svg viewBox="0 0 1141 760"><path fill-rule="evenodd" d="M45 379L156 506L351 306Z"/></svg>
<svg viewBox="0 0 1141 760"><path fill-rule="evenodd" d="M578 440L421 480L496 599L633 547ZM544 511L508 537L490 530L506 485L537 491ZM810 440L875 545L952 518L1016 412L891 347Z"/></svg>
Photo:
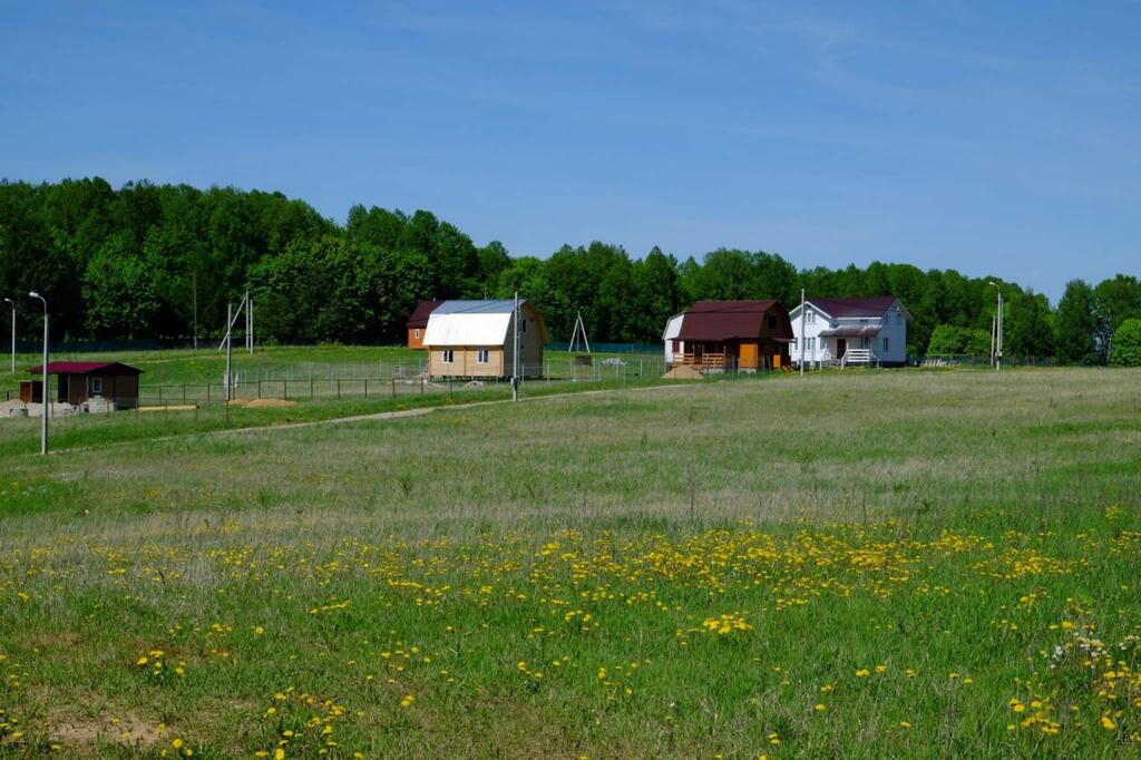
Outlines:
<svg viewBox="0 0 1141 760"><path fill-rule="evenodd" d="M519 374L543 374L547 326L519 301ZM515 361L515 301L444 301L428 317L423 346L432 378L510 378Z"/></svg>

